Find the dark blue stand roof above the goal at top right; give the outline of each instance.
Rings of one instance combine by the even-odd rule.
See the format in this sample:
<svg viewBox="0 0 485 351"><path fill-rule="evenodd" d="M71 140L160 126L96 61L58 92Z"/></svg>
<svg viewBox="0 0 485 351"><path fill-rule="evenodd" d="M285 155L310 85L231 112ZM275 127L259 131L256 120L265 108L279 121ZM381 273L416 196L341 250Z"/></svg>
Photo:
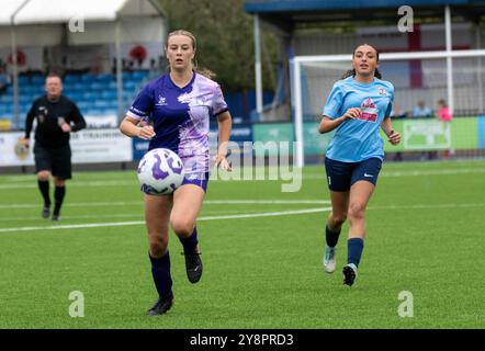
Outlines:
<svg viewBox="0 0 485 351"><path fill-rule="evenodd" d="M413 8L416 22L442 22L447 4L451 5L453 15L467 21L485 19L485 0L246 0L245 10L291 33L302 26L334 26L346 21L368 25L396 23L397 9L402 5Z"/></svg>

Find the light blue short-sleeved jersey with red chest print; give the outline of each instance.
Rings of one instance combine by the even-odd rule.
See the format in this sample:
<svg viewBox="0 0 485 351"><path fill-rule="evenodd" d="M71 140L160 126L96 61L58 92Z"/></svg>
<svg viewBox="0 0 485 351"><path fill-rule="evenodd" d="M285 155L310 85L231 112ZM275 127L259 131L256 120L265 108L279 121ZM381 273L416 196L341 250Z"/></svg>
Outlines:
<svg viewBox="0 0 485 351"><path fill-rule="evenodd" d="M342 162L384 159L384 141L379 135L381 123L391 115L394 87L374 78L370 83L349 77L337 81L328 95L324 115L337 118L351 107L360 107L359 118L347 120L335 132L326 157Z"/></svg>

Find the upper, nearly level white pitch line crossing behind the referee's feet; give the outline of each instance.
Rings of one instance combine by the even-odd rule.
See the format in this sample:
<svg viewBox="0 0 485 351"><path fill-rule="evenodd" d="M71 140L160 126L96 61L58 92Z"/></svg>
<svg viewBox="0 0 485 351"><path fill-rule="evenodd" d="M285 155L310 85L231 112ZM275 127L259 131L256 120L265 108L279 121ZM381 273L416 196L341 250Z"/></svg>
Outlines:
<svg viewBox="0 0 485 351"><path fill-rule="evenodd" d="M205 200L204 205L237 205L237 204L253 204L253 205L300 205L300 204L329 204L329 200ZM103 206L128 206L143 205L142 199L139 201L114 201L114 202L78 202L66 203L66 207L103 207ZM32 208L40 207L40 203L33 204L0 204L0 208Z"/></svg>

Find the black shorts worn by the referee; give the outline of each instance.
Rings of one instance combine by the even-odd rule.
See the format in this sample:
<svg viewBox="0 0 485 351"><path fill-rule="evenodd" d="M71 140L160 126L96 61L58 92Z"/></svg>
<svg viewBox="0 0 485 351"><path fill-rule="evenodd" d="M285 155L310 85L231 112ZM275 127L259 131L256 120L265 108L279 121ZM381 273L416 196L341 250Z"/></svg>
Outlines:
<svg viewBox="0 0 485 351"><path fill-rule="evenodd" d="M34 145L35 172L49 171L59 179L71 179L72 168L70 165L69 145L59 148L44 147L38 143Z"/></svg>

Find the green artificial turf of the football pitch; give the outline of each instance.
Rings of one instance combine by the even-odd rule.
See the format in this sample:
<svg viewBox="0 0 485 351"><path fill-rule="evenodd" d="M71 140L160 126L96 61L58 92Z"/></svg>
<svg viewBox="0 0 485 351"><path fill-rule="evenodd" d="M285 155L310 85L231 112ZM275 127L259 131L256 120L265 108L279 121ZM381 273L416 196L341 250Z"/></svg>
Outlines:
<svg viewBox="0 0 485 351"><path fill-rule="evenodd" d="M0 328L484 328L484 179L483 161L384 163L350 288L348 224L337 271L322 268L323 167L305 168L292 193L281 181L212 181L198 223L202 280L189 283L171 233L176 303L149 318L156 292L134 171L75 173L59 223L41 218L34 176L1 176ZM302 210L314 212L292 213ZM79 226L52 228L69 225ZM82 318L69 315L74 291ZM404 291L413 317L398 315Z"/></svg>

